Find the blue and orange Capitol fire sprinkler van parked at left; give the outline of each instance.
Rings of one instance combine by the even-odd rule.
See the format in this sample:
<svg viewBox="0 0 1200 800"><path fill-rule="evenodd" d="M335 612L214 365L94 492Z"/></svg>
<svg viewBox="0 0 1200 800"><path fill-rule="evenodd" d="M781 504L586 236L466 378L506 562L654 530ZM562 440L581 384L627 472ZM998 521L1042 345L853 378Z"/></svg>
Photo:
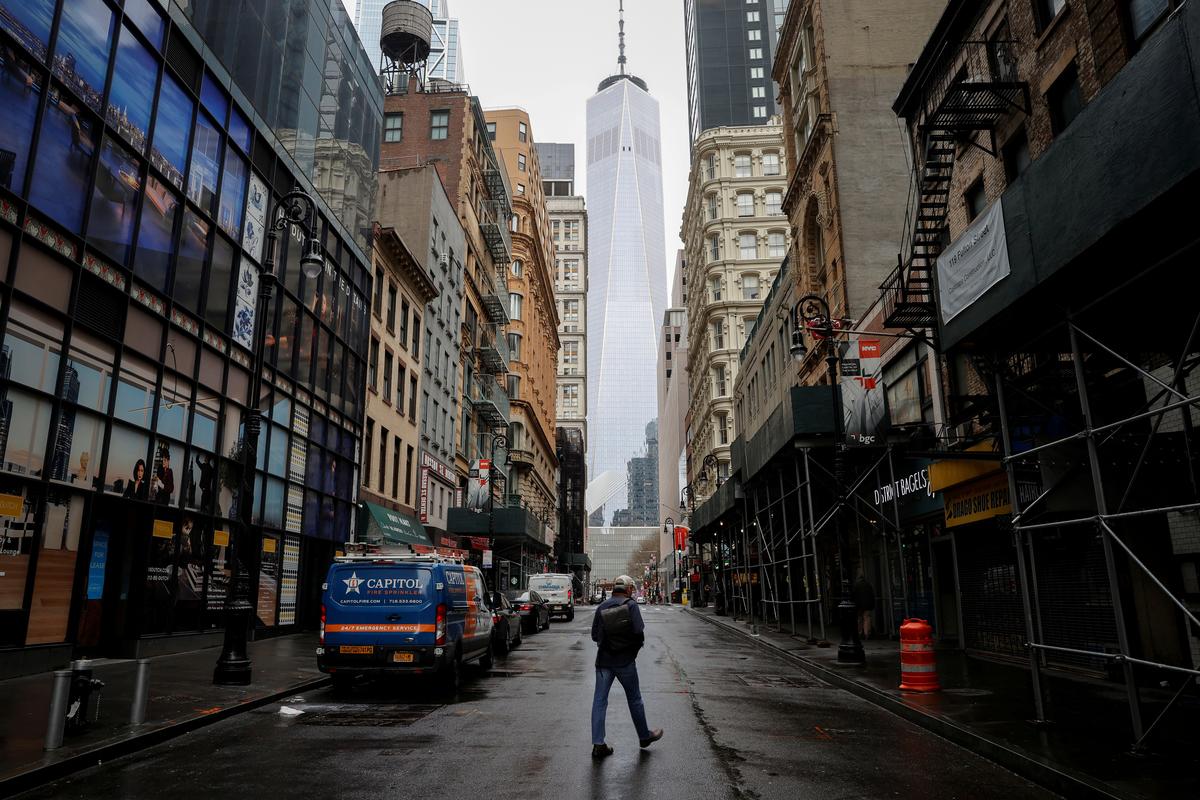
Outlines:
<svg viewBox="0 0 1200 800"><path fill-rule="evenodd" d="M438 676L457 687L463 663L492 667L484 576L431 555L350 555L325 577L317 668L349 688L360 675Z"/></svg>

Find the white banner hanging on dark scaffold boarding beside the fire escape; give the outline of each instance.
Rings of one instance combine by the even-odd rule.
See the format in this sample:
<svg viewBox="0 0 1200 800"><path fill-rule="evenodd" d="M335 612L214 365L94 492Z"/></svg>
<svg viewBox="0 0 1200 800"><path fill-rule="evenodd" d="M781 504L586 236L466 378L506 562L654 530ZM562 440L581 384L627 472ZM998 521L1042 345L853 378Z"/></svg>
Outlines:
<svg viewBox="0 0 1200 800"><path fill-rule="evenodd" d="M1009 271L1004 210L996 200L937 257L942 321L948 323L968 308Z"/></svg>

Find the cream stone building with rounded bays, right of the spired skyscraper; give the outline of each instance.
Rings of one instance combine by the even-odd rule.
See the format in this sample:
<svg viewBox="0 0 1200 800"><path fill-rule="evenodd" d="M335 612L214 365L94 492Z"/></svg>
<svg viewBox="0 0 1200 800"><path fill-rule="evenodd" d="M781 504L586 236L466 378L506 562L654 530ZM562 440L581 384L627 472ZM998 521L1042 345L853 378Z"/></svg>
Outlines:
<svg viewBox="0 0 1200 800"><path fill-rule="evenodd" d="M691 330L688 483L704 493L730 475L738 353L790 246L784 217L788 161L778 121L704 131L692 151L682 230ZM708 456L716 458L716 475L701 487L697 477Z"/></svg>

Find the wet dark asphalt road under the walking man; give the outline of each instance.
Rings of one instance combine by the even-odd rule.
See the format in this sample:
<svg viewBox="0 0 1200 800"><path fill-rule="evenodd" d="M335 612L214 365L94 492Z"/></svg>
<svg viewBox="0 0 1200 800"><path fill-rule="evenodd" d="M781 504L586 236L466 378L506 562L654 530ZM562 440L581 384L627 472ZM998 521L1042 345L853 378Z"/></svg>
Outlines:
<svg viewBox="0 0 1200 800"><path fill-rule="evenodd" d="M1024 798L1012 772L679 608L646 608L640 750L619 685L616 754L590 758L590 614L526 636L454 698L424 684L329 688L187 734L23 798Z"/></svg>

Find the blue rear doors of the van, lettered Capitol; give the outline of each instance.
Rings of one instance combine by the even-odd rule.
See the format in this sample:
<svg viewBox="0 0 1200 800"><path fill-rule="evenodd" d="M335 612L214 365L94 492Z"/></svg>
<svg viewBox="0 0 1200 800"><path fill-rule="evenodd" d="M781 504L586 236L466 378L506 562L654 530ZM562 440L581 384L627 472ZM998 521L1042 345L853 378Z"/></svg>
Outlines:
<svg viewBox="0 0 1200 800"><path fill-rule="evenodd" d="M325 590L326 645L433 644L432 570L414 564L335 564Z"/></svg>

